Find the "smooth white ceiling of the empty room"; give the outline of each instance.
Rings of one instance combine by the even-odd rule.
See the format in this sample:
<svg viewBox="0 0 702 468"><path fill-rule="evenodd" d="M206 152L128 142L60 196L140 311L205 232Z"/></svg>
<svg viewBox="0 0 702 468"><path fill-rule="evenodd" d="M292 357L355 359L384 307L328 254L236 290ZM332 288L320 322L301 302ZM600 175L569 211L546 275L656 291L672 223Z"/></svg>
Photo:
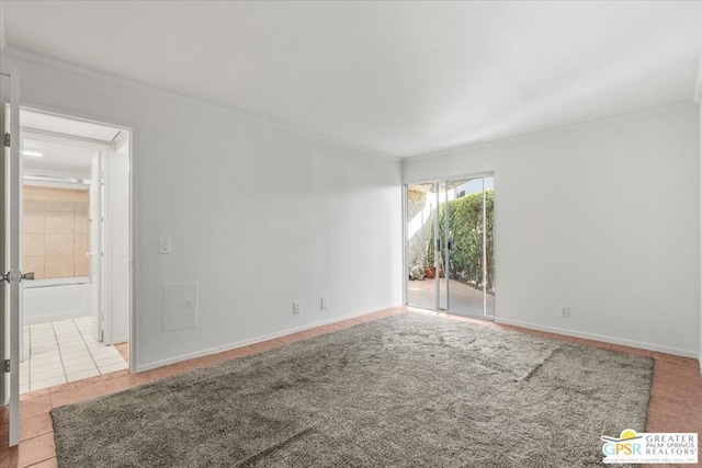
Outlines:
<svg viewBox="0 0 702 468"><path fill-rule="evenodd" d="M3 0L5 41L406 157L691 101L702 2Z"/></svg>

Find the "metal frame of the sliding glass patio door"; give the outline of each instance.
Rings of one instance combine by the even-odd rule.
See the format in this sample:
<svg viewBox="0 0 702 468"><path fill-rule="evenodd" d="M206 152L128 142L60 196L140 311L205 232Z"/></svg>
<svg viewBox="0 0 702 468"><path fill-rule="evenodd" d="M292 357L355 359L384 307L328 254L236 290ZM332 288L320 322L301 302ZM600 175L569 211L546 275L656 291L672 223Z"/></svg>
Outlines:
<svg viewBox="0 0 702 468"><path fill-rule="evenodd" d="M450 182L456 182L456 181L471 181L471 180L475 180L475 179L485 179L485 178L492 178L492 185L497 186L497 182L496 182L496 171L485 171L485 172L476 172L476 173L471 173L467 175L452 175L452 176L437 176L437 178L430 178L430 179L418 179L418 180L409 180L409 181L405 181L403 182L403 303L405 304L405 306L408 307L412 307L409 304L409 277L408 277L408 266L409 266L409 259L408 259L408 254L407 254L407 250L409 247L409 240L407 239L407 190L410 185L417 185L417 184L433 184L434 189L437 189L437 193L435 193L435 197L437 197L437 212L439 209L439 206L442 203L446 203L445 199L441 199L440 196L440 191L439 187L441 186L441 184L448 184ZM485 184L485 182L484 182ZM444 191L445 192L445 191ZM483 194L485 194L485 185L483 186ZM484 195L484 203L483 203L483 210L485 213L485 195ZM495 216L495 215L492 215ZM435 214L434 216L434 225L435 225L435 231L439 232L438 227L441 222L441 220L439 219L439 213ZM444 219L445 225L448 225L449 222L449 217L446 216ZM492 231L495 231L495 221L492 222ZM445 229L444 227L444 232L448 232L448 229ZM495 232L492 232L492 237L495 238ZM445 244L444 240L442 239L442 242ZM446 246L442 247L442 251L443 249L445 249ZM483 254L485 255L485 248L483 249ZM435 253L434 255L438 255L438 253ZM494 261L497 259L497 254L494 254L495 258L492 259ZM448 261L449 258L448 255L444 255L444 269L448 271ZM437 259L434 258L434 264L437 262ZM488 321L495 321L495 318L497 317L497 300L494 297L494 304L495 304L495 310L492 316L487 316L487 315L482 315L482 316L476 316L476 315L472 315L472 313L461 313L457 312L455 310L451 309L451 303L450 303L450 297L449 297L449 282L446 282L446 288L445 292L443 293L446 298L446 309L441 309L440 308L440 304L441 304L441 287L440 287L440 277L439 277L439 272L437 272L437 277L435 277L435 290L437 290L437 296L435 296L435 311L440 311L440 312L446 312L446 313L454 313L454 315L461 315L461 316L465 316L465 317L471 317L471 318L477 318L477 319L483 319L483 320L488 320ZM484 312L487 310L487 304L486 304L486 297L485 297L485 293L483 295L483 310Z"/></svg>

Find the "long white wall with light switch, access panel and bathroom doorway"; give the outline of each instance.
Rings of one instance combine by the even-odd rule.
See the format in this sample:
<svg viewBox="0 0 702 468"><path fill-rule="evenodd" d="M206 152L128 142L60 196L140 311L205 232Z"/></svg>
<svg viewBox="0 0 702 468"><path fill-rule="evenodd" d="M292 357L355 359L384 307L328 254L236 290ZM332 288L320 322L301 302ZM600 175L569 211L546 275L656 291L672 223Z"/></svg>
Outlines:
<svg viewBox="0 0 702 468"><path fill-rule="evenodd" d="M53 61L12 65L25 105L134 129L139 368L401 304L399 162ZM162 285L189 281L199 327L163 333Z"/></svg>

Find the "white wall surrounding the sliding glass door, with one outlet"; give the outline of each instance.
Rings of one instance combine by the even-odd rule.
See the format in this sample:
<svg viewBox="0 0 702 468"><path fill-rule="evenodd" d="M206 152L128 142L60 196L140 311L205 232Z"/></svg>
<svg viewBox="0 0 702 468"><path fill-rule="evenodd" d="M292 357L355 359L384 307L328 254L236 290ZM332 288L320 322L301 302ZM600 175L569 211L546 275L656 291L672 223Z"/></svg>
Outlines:
<svg viewBox="0 0 702 468"><path fill-rule="evenodd" d="M411 159L404 179L495 171L497 321L697 356L698 121L677 105Z"/></svg>

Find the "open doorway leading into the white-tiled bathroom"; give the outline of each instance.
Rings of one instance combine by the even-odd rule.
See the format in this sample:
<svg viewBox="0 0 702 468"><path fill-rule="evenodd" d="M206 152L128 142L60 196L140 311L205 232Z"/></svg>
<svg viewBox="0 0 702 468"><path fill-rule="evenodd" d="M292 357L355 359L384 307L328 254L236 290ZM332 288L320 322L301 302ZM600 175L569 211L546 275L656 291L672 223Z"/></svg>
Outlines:
<svg viewBox="0 0 702 468"><path fill-rule="evenodd" d="M131 132L22 109L20 392L128 369Z"/></svg>

